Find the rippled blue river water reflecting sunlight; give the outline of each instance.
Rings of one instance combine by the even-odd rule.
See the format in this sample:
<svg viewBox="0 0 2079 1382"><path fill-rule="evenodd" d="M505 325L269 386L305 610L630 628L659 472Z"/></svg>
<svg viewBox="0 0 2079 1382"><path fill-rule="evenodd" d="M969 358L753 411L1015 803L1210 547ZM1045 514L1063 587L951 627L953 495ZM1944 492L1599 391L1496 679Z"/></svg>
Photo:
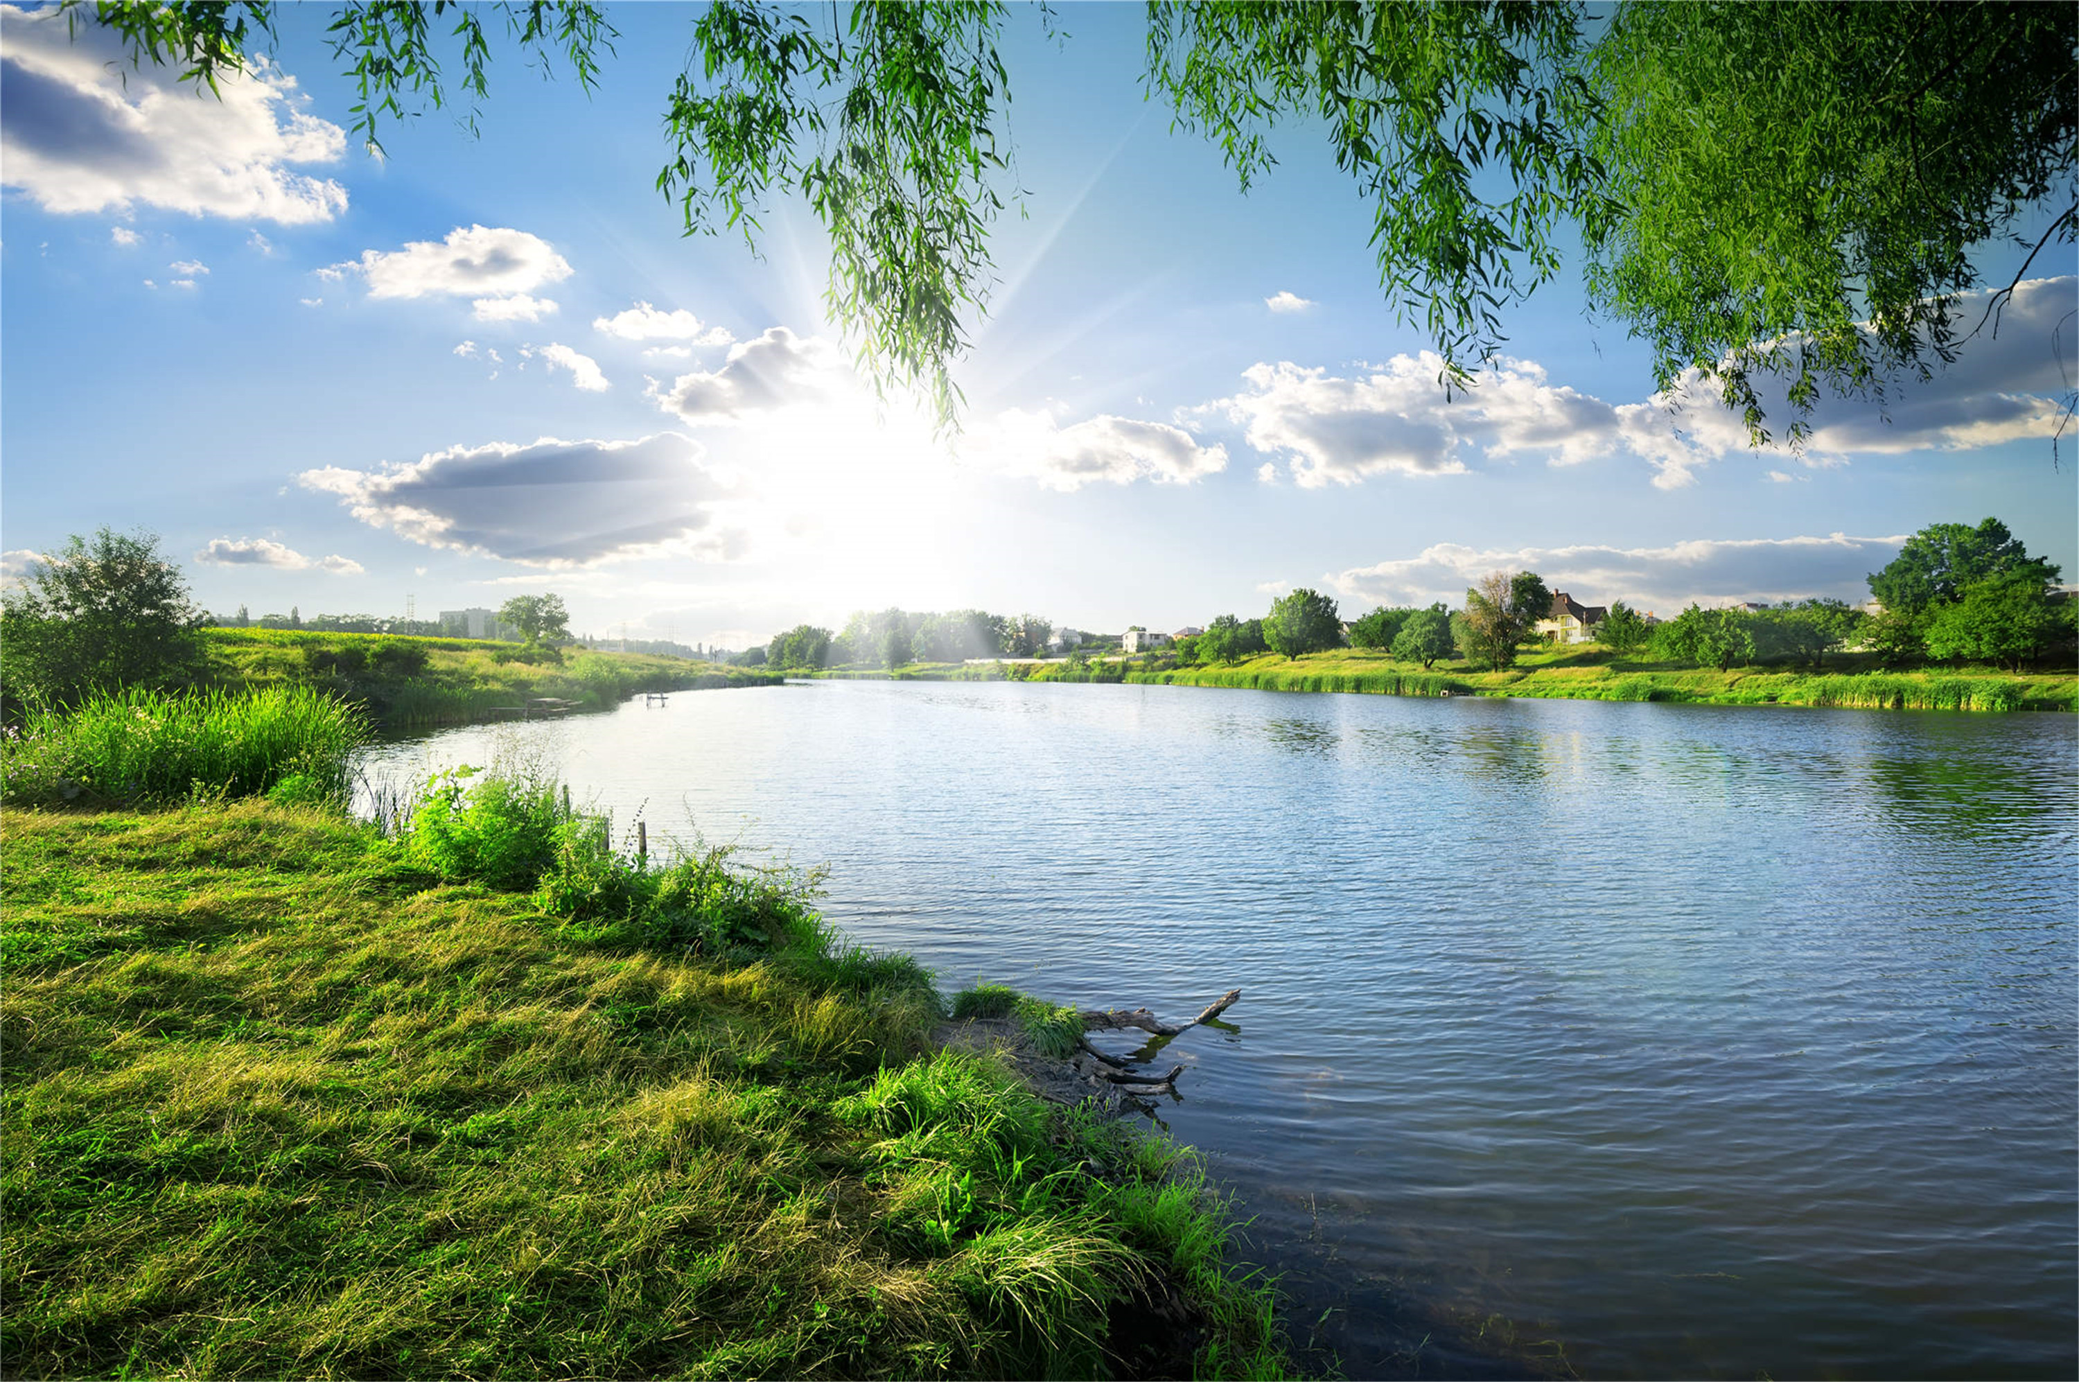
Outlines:
<svg viewBox="0 0 2079 1382"><path fill-rule="evenodd" d="M1162 1122L1349 1376L2079 1374L2079 721L821 682L532 756L827 914L1189 1018Z"/></svg>

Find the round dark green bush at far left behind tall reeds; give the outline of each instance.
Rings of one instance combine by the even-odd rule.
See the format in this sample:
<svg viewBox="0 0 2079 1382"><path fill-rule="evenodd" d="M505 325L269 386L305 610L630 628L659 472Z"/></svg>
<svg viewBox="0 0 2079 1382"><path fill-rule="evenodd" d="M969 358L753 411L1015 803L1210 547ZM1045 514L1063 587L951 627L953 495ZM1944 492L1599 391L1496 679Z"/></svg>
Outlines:
<svg viewBox="0 0 2079 1382"><path fill-rule="evenodd" d="M73 534L4 596L0 675L10 700L69 707L96 690L177 686L202 663L181 567L158 534Z"/></svg>

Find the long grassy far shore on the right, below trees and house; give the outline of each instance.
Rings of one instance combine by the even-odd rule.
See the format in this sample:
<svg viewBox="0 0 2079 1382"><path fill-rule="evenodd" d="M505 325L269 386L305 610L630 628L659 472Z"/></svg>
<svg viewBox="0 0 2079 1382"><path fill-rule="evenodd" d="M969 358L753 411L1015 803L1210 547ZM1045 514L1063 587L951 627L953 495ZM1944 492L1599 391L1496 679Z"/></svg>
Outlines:
<svg viewBox="0 0 2079 1382"><path fill-rule="evenodd" d="M1091 663L1096 667L1096 663ZM1958 671L1879 671L1869 659L1840 659L1838 669L1730 671L1622 659L1601 648L1530 653L1509 671L1474 671L1464 663L1397 663L1387 653L1337 648L1299 659L1254 657L1233 665L1129 669L1127 682L1162 686L1233 686L1287 692L1360 692L1383 696L1532 696L1561 700L1665 700L1684 705L1805 705L1890 711L2075 711L2079 675L2006 673L1990 667ZM877 675L834 671L825 675ZM896 680L1087 680L1073 663L1031 661L992 665L900 667ZM1104 677L1112 680L1112 677Z"/></svg>

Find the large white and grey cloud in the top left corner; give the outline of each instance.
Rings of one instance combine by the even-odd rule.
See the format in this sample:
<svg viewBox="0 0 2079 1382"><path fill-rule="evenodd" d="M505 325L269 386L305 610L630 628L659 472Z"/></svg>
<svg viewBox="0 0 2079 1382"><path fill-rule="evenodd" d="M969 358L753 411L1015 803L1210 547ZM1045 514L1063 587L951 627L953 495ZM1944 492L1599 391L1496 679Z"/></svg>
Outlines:
<svg viewBox="0 0 2079 1382"><path fill-rule="evenodd" d="M179 73L131 67L83 10L0 4L0 179L58 214L143 204L308 224L347 208L339 183L287 168L345 154L345 131L304 110L293 77L256 56L212 96Z"/></svg>

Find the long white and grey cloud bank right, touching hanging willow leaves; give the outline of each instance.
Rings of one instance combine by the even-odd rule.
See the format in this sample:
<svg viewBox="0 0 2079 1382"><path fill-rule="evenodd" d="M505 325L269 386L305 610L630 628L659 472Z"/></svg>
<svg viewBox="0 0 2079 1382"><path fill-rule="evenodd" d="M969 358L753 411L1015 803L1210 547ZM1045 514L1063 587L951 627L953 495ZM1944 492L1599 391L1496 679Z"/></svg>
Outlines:
<svg viewBox="0 0 2079 1382"><path fill-rule="evenodd" d="M2002 314L1998 337L1969 341L1958 360L1929 380L1894 380L1881 397L1821 397L1800 449L1759 449L1786 466L1840 466L1854 455L1963 451L2056 434L2071 366L2067 330L2079 278L2021 285ZM1967 295L1958 316L1975 320L1985 295ZM2060 360L2058 341L2064 339ZM1692 484L1703 466L1755 455L1746 424L1728 411L1717 389L1694 370L1644 401L1607 403L1553 384L1545 366L1501 357L1449 401L1435 353L1395 355L1351 376L1291 362L1256 364L1243 391L1193 416L1225 416L1249 445L1283 457L1297 484L1358 484L1378 474L1464 474L1482 459L1543 459L1578 466L1630 455L1653 468L1653 484ZM1790 420L1782 380L1763 380L1763 407L1778 426Z"/></svg>

